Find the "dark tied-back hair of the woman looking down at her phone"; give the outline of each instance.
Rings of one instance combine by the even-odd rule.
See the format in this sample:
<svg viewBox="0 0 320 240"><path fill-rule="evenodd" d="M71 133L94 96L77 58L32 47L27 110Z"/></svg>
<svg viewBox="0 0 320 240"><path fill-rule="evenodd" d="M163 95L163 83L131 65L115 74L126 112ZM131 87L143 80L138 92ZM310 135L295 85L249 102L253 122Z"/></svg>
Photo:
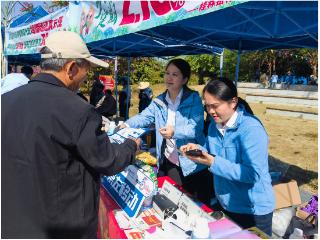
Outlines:
<svg viewBox="0 0 320 240"><path fill-rule="evenodd" d="M203 94L205 92L214 95L215 97L223 100L223 101L230 101L234 97L238 98L238 104L242 104L246 111L253 115L253 111L250 108L249 104L242 98L238 97L237 87L234 83L225 77L219 77L216 79L212 79L207 85L203 88Z"/></svg>

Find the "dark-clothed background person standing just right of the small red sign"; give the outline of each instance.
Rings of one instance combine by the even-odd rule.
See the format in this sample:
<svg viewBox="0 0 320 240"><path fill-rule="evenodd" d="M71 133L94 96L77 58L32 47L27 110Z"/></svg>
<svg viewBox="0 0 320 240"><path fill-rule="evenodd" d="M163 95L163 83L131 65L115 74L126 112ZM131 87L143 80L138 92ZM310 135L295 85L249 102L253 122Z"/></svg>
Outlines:
<svg viewBox="0 0 320 240"><path fill-rule="evenodd" d="M129 108L131 104L131 87L127 78L121 79L122 90L119 92L119 115L124 120L129 117Z"/></svg>

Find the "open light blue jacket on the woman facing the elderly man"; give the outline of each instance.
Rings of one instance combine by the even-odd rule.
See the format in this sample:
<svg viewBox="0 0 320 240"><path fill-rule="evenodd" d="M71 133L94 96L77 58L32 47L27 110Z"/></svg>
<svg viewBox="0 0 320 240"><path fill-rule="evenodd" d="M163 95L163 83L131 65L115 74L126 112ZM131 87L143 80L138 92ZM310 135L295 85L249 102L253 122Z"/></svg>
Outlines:
<svg viewBox="0 0 320 240"><path fill-rule="evenodd" d="M161 164L161 146L163 144L163 137L159 133L159 128L166 126L168 118L168 103L165 100L166 93L164 92L157 96L145 110L126 121L126 124L130 127L136 128L147 127L155 123L158 166ZM184 87L181 102L176 113L176 125L173 136L178 148L189 142L201 145L205 143L203 115L204 110L199 93ZM183 156L179 156L179 162L184 176L198 172L206 167L202 164L196 164Z"/></svg>

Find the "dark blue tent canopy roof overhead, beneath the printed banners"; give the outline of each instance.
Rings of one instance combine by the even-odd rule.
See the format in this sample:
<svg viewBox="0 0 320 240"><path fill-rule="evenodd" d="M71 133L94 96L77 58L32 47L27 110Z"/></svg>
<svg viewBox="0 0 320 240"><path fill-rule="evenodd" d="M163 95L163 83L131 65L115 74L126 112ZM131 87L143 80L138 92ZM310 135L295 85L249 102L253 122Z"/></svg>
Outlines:
<svg viewBox="0 0 320 240"><path fill-rule="evenodd" d="M88 43L93 55L176 56L221 53L221 48L317 48L317 1L249 1L113 39ZM30 55L8 56L30 60ZM39 54L32 56L39 60Z"/></svg>

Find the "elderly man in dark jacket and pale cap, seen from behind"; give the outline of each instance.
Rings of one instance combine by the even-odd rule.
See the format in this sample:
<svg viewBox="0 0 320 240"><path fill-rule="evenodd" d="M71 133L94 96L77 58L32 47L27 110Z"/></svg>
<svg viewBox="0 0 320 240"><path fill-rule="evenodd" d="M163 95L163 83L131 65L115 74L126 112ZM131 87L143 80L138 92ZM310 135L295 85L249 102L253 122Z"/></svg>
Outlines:
<svg viewBox="0 0 320 240"><path fill-rule="evenodd" d="M100 174L135 161L139 141L111 144L76 95L92 57L73 32L49 35L42 72L2 95L2 238L96 238Z"/></svg>

